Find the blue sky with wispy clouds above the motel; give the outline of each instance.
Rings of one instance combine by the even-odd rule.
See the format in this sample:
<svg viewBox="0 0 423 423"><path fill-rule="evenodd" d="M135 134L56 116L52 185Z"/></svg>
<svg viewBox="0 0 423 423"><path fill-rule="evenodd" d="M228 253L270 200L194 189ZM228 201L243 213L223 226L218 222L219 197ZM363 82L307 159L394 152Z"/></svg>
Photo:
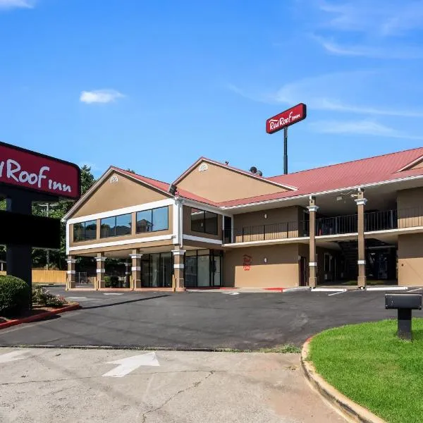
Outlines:
<svg viewBox="0 0 423 423"><path fill-rule="evenodd" d="M422 146L423 1L0 0L0 140L170 182Z"/></svg>

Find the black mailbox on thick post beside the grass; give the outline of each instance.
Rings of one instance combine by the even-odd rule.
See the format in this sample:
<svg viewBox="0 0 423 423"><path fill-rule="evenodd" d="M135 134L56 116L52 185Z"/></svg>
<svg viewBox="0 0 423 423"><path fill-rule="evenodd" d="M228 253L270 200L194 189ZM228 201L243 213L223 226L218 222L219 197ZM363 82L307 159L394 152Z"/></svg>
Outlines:
<svg viewBox="0 0 423 423"><path fill-rule="evenodd" d="M411 310L421 310L422 294L385 294L385 308L398 309L398 336L411 339Z"/></svg>

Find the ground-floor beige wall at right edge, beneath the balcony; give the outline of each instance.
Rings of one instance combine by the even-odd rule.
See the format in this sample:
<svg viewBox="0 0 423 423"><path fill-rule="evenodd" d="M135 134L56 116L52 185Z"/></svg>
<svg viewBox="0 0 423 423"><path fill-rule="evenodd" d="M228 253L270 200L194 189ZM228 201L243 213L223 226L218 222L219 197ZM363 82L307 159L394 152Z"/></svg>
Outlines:
<svg viewBox="0 0 423 423"><path fill-rule="evenodd" d="M423 285L423 233L398 236L398 285Z"/></svg>

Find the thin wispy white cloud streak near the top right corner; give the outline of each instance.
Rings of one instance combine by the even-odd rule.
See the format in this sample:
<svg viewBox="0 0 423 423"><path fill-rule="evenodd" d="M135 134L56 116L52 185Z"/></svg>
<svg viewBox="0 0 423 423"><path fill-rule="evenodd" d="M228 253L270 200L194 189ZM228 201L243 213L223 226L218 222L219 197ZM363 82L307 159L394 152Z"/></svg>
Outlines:
<svg viewBox="0 0 423 423"><path fill-rule="evenodd" d="M364 56L374 59L422 59L423 50L411 47L372 47L368 45L341 45L322 37L313 37L321 47L338 56Z"/></svg>

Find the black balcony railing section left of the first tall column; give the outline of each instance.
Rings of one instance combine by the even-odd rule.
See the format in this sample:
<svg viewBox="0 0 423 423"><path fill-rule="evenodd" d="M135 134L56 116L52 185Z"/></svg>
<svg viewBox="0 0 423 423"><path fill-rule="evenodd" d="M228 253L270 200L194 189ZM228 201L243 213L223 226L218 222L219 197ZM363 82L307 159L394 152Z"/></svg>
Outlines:
<svg viewBox="0 0 423 423"><path fill-rule="evenodd" d="M266 225L244 226L223 230L223 243L250 243L285 238L298 238L309 235L308 221L269 223Z"/></svg>

